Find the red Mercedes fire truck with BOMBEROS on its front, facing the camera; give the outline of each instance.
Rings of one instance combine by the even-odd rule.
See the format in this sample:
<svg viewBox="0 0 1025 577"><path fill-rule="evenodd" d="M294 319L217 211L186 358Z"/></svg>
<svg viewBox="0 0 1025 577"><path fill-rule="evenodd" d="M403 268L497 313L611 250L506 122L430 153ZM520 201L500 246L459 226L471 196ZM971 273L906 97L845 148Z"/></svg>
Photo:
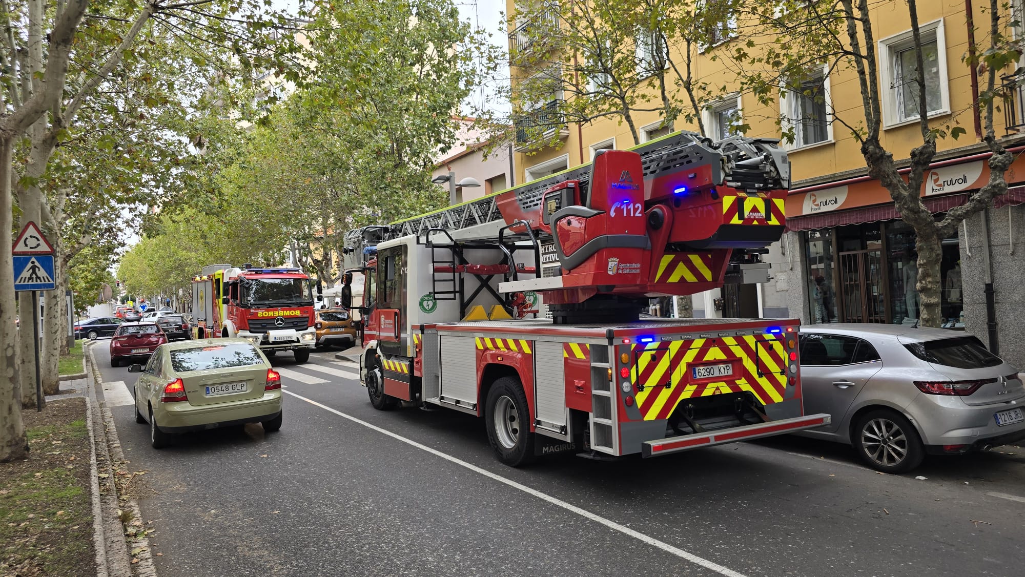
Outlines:
<svg viewBox="0 0 1025 577"><path fill-rule="evenodd" d="M305 363L317 342L314 291L299 269L210 264L193 279L196 338L237 336Z"/></svg>

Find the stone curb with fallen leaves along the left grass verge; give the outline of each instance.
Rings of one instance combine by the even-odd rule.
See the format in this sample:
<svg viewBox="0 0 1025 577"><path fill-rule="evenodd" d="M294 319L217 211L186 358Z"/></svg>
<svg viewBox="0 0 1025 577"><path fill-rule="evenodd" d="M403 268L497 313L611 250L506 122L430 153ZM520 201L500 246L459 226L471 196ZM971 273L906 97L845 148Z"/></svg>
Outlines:
<svg viewBox="0 0 1025 577"><path fill-rule="evenodd" d="M118 467L125 462L124 452L121 450L121 441L114 424L114 416L106 403L96 401L96 389L102 387L104 377L99 372L96 359L92 355L91 346L85 352L85 359L88 360L91 369L89 372L92 377L87 380L89 386L86 396L87 403L91 401L90 419L95 418L104 424L102 430L97 429L97 432L102 435L102 444L93 446L93 459L98 464L97 475L93 478L102 485L102 490L99 491L101 517L99 524L101 525L106 553L104 567L106 572L102 575L109 577L131 577L133 575L136 577L156 577L153 551L147 537L132 538L130 541L131 550L140 550L134 555L129 552L129 541L126 536L128 528L119 518L118 511L127 511L133 521L142 521L142 513L135 499L122 499L118 495L115 479L118 472L124 472ZM95 411L94 416L92 411ZM104 468L102 471L99 471L100 467ZM100 479L100 472L106 473L107 477ZM138 559L138 563L132 565L132 559Z"/></svg>

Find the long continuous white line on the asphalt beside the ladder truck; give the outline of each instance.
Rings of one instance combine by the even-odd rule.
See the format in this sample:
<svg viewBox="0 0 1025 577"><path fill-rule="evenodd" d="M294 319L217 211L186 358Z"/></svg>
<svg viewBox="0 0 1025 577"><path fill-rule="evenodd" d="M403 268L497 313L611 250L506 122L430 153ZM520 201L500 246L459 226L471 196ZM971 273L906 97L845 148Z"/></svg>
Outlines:
<svg viewBox="0 0 1025 577"><path fill-rule="evenodd" d="M422 451L426 451L427 453L430 453L432 455L435 455L437 457L441 457L441 458L443 458L445 460L448 460L448 461L451 461L451 462L453 462L453 463L455 463L455 464L457 464L459 466L468 468L469 470L471 470L474 472L477 472L477 473L480 473L480 475L483 475L484 477L487 477L488 479L491 479L493 481L497 481L497 482L502 483L504 485L507 485L507 486L509 486L509 487L511 487L514 489L523 491L524 493L527 493L528 495L532 495L534 497L537 497L538 499L541 499L543 501L547 501L547 502L549 502L549 503L551 503L551 504L554 504L556 506L562 507L562 508L564 508L564 509L566 509L566 510L568 510L570 512L574 512L576 514L579 514L580 517L583 517L584 519L588 519L588 520L593 521L596 523L600 523L600 524L608 527L609 529L612 529L613 531L618 531L618 532L620 532L620 533L622 533L622 534L624 534L624 535L626 535L628 537L632 537L632 538L634 538L634 539L637 539L639 541L642 541L642 542L648 543L649 545L653 545L655 547L658 547L658 548L662 549L663 551L666 551L668 553L672 553L672 554L674 554L674 555L676 555L676 557L679 557L681 559L684 559L686 561L689 561L689 562L691 562L691 563L693 563L695 565L699 565L699 566L701 566L701 567L703 567L703 568L705 568L705 569L707 569L709 571L714 571L715 573L719 573L720 575L726 575L727 577L744 577L744 575L742 573L737 573L736 571L733 571L732 569L728 569L726 567L723 567L722 565L719 565L716 563L712 563L712 562L710 562L710 561L708 561L706 559L700 558L700 557L698 557L698 555L696 555L694 553L687 552L687 551L685 551L685 550L683 550L681 548L674 547L674 546L672 546L672 545L670 545L670 544L668 544L668 543L666 543L664 541L659 541L658 539L656 539L654 537L651 537L649 535L645 535L644 533L641 533L639 531L634 531L634 530L630 529L629 527L626 527L626 526L623 526L623 525L620 525L620 524L616 523L615 521L611 521L611 520L608 520L608 519L606 519L606 518L604 518L602 516L594 514L594 513L592 513L592 512L590 512L590 511L588 511L586 509L582 509L582 508L580 508L580 507L578 507L576 505L572 505L570 503L567 503L566 501L564 501L562 499L557 499L556 497L552 497L551 495L548 495L546 493L542 493L542 492L540 492L540 491L538 491L536 489L531 489L530 487L527 487L526 485L522 485L520 483L517 483L516 481L512 481L511 479L506 479L506 478L504 478L504 477L502 477L500 475L491 472L490 470L481 468L481 467L479 467L479 466L477 466L475 464L467 463L466 461L464 461L462 459L453 457L453 456L451 456L449 454L446 454L446 453L443 453L441 451L438 451L437 449L432 449L430 447L427 447L426 445L421 445L421 444L417 443L416 441L413 441L411 439L407 439L407 438L405 438L405 437L403 437L401 435L398 435L396 432L392 432L391 430L387 430L386 428L381 428L381 427L379 427L379 426L377 426L375 424L371 424L371 423L369 423L369 422L367 422L367 421L365 421L363 419L358 419L358 418L356 418L356 417L354 417L352 415L346 415L345 413L342 413L341 411L337 411L335 409L332 409L331 407L328 407L327 405L322 405L321 403L318 403L318 402L313 401L311 399L306 399L305 397L302 397L301 395L296 395L296 394L292 393L291 390L286 390L285 393L287 395L291 395L292 397L295 397L296 399L300 399L302 401L305 401L306 403L310 403L311 405L314 405L315 407L320 407L321 409L324 409L325 411L328 411L330 413L334 413L334 414L338 415L339 417L348 419L348 420L351 420L351 421L353 421L353 422L355 422L357 424L362 424L363 426L365 426L367 428L370 428L370 429L373 429L373 430L376 430L377 432L381 432L381 434L387 435L388 437L391 437L393 439L396 439L398 441L402 441L403 443L405 443L407 445L416 447L417 449L420 449Z"/></svg>

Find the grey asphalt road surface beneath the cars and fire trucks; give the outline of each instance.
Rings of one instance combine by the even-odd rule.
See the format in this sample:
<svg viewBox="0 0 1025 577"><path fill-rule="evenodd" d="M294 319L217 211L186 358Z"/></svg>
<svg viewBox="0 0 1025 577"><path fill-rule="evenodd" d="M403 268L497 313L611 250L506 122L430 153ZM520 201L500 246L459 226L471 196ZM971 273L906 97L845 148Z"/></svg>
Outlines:
<svg viewBox="0 0 1025 577"><path fill-rule="evenodd" d="M104 380L130 386L97 344ZM161 576L1025 572L1025 450L890 476L843 446L775 438L514 469L471 416L375 411L333 353L274 362L277 434L215 429L156 451L131 405L112 407L128 466L149 471L139 505Z"/></svg>

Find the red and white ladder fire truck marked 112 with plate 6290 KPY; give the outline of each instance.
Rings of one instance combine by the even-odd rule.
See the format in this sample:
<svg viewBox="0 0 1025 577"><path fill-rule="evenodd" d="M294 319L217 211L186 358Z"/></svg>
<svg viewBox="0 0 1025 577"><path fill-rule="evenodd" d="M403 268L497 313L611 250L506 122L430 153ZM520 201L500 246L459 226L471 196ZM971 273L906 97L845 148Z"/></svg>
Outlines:
<svg viewBox="0 0 1025 577"><path fill-rule="evenodd" d="M778 140L682 131L351 231L345 255L365 264L344 275L342 302L363 314L372 405L482 416L514 466L829 423L803 414L798 321L640 318L653 296L768 280L761 254L783 232L788 187Z"/></svg>

